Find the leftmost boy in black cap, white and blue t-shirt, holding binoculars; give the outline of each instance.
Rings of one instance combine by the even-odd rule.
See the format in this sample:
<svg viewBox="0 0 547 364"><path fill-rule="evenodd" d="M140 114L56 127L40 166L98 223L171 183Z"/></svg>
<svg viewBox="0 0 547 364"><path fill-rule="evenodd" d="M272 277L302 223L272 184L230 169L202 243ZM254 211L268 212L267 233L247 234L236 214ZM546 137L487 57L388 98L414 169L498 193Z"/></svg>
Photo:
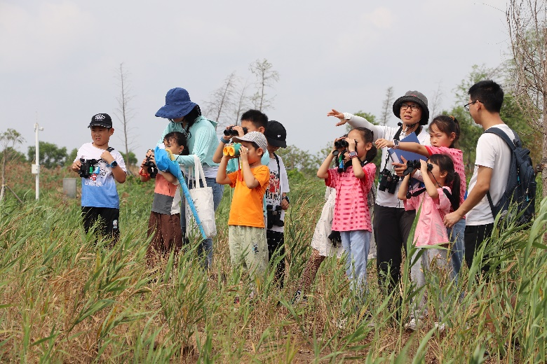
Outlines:
<svg viewBox="0 0 547 364"><path fill-rule="evenodd" d="M119 239L120 202L116 183L126 181L126 163L108 142L114 128L112 118L98 113L88 126L93 142L81 146L72 163L72 170L81 176L81 215L86 233L100 220L97 233Z"/></svg>

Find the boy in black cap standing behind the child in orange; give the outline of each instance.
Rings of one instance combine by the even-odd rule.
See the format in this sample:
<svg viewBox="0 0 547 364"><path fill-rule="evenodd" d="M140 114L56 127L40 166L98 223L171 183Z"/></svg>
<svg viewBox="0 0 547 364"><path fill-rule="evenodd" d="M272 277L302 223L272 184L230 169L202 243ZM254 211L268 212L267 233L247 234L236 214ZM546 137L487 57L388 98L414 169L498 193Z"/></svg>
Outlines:
<svg viewBox="0 0 547 364"><path fill-rule="evenodd" d="M279 148L286 148L287 131L281 123L271 120L266 127L264 137L268 142L270 183L266 189L266 239L270 264L281 256L275 267L275 280L283 288L285 280L285 210L289 208L289 179L281 157L276 155Z"/></svg>

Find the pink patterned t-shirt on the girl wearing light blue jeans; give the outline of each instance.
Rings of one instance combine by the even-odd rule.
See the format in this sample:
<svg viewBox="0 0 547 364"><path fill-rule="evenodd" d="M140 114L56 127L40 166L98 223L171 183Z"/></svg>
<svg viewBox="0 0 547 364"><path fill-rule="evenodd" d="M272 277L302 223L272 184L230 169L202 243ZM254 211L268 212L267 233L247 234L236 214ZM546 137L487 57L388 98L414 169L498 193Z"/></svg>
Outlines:
<svg viewBox="0 0 547 364"><path fill-rule="evenodd" d="M363 166L363 172L365 172L363 179L356 179L352 166L342 173L338 173L336 168L328 170L329 176L325 179L325 185L336 189L332 230L372 232L367 195L374 182L376 166L374 163L367 163Z"/></svg>

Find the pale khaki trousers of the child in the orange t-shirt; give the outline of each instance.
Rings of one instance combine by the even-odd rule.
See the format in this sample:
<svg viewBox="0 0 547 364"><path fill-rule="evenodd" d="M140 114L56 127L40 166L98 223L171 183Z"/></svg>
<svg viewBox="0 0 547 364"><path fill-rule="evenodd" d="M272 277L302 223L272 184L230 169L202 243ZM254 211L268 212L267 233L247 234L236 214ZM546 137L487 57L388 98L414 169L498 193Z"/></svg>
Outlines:
<svg viewBox="0 0 547 364"><path fill-rule="evenodd" d="M228 226L230 262L233 268L238 265L249 269L252 279L262 276L268 267L268 243L264 228L250 226Z"/></svg>

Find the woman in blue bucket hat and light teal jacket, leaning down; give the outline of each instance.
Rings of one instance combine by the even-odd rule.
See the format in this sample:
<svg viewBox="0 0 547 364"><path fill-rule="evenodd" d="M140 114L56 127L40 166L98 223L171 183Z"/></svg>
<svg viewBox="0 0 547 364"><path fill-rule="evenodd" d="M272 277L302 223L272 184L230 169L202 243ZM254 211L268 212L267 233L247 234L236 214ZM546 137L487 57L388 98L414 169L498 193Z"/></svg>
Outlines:
<svg viewBox="0 0 547 364"><path fill-rule="evenodd" d="M169 120L166 129L163 130L158 146L163 146L163 137L170 132L182 132L188 141L190 155L177 155L176 161L184 167L194 167L194 155L197 155L203 166L207 186L212 187L212 197L215 210L222 200L224 186L216 181L218 165L212 161L212 155L217 148L217 122L209 120L201 115L201 109L195 102L191 102L187 90L182 87L175 87L166 94L166 104L158 110L156 116ZM188 176L192 179L193 176ZM186 229L186 218L181 214L180 218L182 232ZM212 265L212 239L201 241L198 246L198 254L205 255L203 267L210 269Z"/></svg>

